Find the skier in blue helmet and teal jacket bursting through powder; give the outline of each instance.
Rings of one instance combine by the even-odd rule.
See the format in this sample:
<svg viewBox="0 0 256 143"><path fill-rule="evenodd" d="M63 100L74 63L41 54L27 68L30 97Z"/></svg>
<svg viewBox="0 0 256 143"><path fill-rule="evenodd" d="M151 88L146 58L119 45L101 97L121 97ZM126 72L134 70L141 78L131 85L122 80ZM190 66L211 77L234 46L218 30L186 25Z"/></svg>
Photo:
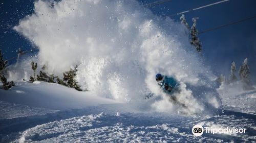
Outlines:
<svg viewBox="0 0 256 143"><path fill-rule="evenodd" d="M170 99L177 103L176 97L173 95L174 92L179 92L179 83L173 77L163 76L161 74L156 75L156 81L162 90L169 94Z"/></svg>

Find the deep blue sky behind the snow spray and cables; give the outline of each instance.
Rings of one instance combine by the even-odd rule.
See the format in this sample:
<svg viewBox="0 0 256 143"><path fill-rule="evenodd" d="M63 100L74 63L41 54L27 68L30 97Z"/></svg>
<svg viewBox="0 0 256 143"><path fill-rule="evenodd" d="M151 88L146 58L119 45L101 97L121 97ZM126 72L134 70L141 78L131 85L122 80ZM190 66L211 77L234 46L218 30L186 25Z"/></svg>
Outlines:
<svg viewBox="0 0 256 143"><path fill-rule="evenodd" d="M219 1L219 0L218 0ZM197 8L218 1L173 0L150 9L159 16L175 14L181 11ZM35 53L36 48L23 36L12 30L18 21L33 12L33 0L8 0L0 2L1 30L0 49L10 63L15 62L18 47ZM155 2L139 1L141 4ZM230 0L228 2L186 13L186 19L191 25L193 17L199 17L199 31L224 25L233 21L256 15L256 1ZM173 16L180 21L180 16ZM256 18L231 25L229 27L202 33L199 35L203 44L202 55L207 64L217 73L228 75L230 64L235 61L237 68L247 57L251 76L256 79Z"/></svg>

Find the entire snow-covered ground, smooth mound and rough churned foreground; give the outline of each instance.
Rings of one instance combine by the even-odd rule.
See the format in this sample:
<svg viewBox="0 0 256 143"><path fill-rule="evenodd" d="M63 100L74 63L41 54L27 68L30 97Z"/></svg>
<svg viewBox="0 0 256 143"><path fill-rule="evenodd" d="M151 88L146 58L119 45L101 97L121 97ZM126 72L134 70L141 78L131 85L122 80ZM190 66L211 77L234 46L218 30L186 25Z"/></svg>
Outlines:
<svg viewBox="0 0 256 143"><path fill-rule="evenodd" d="M92 97L90 91L79 92L57 84L16 85L8 91L0 90L2 142L256 141L256 90L228 97L221 94L223 108L217 114L188 116L138 111L127 103ZM196 124L247 130L194 136L191 129Z"/></svg>

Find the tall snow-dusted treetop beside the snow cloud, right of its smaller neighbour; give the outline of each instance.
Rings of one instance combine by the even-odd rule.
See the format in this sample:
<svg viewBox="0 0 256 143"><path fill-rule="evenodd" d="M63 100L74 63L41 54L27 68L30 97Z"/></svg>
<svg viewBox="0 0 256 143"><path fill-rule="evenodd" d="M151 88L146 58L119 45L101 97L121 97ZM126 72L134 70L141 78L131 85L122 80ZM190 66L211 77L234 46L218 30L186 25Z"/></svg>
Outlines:
<svg viewBox="0 0 256 143"><path fill-rule="evenodd" d="M193 25L191 26L191 29L190 29L190 36L191 36L190 44L194 45L198 52L201 52L202 51L202 44L201 44L201 41L199 40L199 38L197 36L198 35L198 30L196 28L198 19L199 19L198 17L194 17L192 19L193 20Z"/></svg>

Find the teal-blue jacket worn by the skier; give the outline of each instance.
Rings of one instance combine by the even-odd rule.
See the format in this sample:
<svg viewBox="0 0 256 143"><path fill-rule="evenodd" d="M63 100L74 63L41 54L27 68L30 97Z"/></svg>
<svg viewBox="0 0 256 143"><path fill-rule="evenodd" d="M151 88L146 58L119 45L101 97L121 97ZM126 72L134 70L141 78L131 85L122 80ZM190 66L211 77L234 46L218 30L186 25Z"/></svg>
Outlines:
<svg viewBox="0 0 256 143"><path fill-rule="evenodd" d="M168 94L172 94L177 91L179 88L179 83L173 77L164 76L162 81L159 81L158 84L161 86L163 91Z"/></svg>

